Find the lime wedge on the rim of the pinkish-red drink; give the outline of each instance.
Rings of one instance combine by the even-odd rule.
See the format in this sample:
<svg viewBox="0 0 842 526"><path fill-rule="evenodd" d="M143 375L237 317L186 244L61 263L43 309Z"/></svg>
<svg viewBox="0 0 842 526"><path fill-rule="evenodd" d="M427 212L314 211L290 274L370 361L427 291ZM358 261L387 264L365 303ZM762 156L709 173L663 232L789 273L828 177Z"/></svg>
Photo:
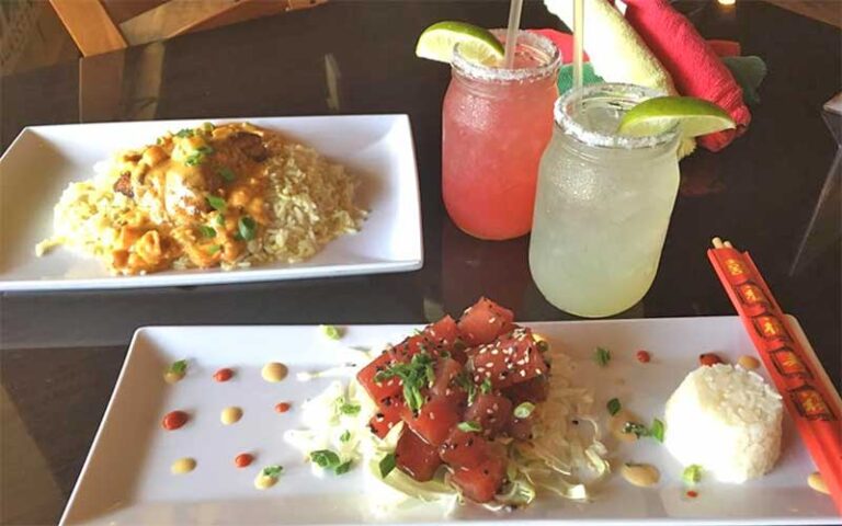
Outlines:
<svg viewBox="0 0 842 526"><path fill-rule="evenodd" d="M439 22L425 28L418 38L416 55L450 64L456 44L459 55L473 62L493 65L503 59L503 45L490 31L465 22Z"/></svg>

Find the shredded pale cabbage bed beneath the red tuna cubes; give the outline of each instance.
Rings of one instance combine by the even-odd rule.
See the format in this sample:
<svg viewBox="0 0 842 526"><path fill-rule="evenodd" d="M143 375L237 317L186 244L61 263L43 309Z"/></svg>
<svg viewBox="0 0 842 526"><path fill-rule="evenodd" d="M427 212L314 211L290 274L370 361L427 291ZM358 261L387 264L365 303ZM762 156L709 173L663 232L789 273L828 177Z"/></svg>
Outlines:
<svg viewBox="0 0 842 526"><path fill-rule="evenodd" d="M533 439L494 441L508 455L509 482L494 502L486 504L490 510L526 506L542 493L584 501L591 496L589 489L611 471L605 460L607 449L600 442L600 427L590 414L592 393L571 385L572 363L567 356L551 348L546 356L553 361L554 374L547 400L535 409ZM339 369L311 373L299 379L330 376ZM342 369L348 373L348 368ZM343 403L359 405L360 410L345 414L341 410ZM418 482L398 469L385 479L382 477L379 462L395 451L403 424L398 423L386 437L377 438L368 428L377 407L355 378L348 384L332 381L321 395L305 402L303 410L307 428L286 432L287 442L305 457L311 450L328 448L337 451L342 461L353 460L355 466L363 466L365 494L375 514L387 515L421 502L453 510L463 502L444 467L428 482ZM572 420L579 425L571 425ZM314 469L320 470L315 465Z"/></svg>

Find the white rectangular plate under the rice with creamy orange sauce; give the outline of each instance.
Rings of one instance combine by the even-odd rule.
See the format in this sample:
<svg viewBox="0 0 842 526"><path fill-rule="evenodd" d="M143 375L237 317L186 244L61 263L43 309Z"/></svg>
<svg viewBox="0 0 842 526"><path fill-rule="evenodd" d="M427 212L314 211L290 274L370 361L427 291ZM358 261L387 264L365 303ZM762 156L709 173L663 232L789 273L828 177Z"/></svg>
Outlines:
<svg viewBox="0 0 842 526"><path fill-rule="evenodd" d="M112 276L92 258L59 248L35 256L49 237L53 207L68 183L93 176L115 151L149 144L198 121L73 124L25 128L0 159L0 290L204 285L418 270L421 215L412 132L407 115L216 118L248 121L316 148L357 174L356 202L371 215L356 235L328 243L312 259L248 270L169 271Z"/></svg>

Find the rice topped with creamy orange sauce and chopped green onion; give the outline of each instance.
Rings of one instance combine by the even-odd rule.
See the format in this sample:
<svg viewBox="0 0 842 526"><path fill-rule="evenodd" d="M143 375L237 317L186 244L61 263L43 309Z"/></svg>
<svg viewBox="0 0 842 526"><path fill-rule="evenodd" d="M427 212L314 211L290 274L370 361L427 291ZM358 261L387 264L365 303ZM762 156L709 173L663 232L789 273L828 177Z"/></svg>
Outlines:
<svg viewBox="0 0 842 526"><path fill-rule="evenodd" d="M64 244L129 275L301 261L359 230L354 187L310 148L247 123L208 123L72 183L36 253Z"/></svg>

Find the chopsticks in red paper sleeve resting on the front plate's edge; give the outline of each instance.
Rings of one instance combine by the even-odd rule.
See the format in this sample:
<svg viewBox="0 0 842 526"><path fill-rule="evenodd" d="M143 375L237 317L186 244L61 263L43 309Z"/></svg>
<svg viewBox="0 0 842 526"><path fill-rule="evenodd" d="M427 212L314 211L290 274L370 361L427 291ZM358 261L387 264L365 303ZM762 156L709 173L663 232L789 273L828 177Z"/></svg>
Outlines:
<svg viewBox="0 0 842 526"><path fill-rule="evenodd" d="M842 514L842 402L819 364L794 336L748 252L714 238L707 256Z"/></svg>

